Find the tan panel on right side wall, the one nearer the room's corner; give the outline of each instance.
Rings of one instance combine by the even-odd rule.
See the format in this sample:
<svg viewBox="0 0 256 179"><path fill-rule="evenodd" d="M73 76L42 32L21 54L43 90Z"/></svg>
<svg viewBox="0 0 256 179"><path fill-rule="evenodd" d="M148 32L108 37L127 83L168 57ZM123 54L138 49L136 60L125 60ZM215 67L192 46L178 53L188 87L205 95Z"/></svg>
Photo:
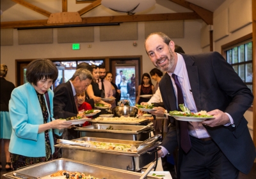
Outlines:
<svg viewBox="0 0 256 179"><path fill-rule="evenodd" d="M218 13L213 18L213 40L216 42L221 38L228 36L228 9Z"/></svg>

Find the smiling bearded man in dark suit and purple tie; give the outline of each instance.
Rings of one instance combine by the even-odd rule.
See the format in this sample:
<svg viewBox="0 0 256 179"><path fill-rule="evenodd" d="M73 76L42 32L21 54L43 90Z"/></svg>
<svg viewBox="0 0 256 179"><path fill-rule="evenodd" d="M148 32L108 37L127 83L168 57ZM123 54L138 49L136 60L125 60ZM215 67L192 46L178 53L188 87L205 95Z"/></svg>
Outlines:
<svg viewBox="0 0 256 179"><path fill-rule="evenodd" d="M152 114L177 111L183 100L191 112L205 110L214 118L186 122L170 117L159 157L179 146L178 178L238 178L239 171L249 173L255 146L243 114L252 104L252 92L218 52L189 56L176 54L174 48L163 33L152 33L145 41L152 63L166 71L159 87L167 111L156 107Z"/></svg>

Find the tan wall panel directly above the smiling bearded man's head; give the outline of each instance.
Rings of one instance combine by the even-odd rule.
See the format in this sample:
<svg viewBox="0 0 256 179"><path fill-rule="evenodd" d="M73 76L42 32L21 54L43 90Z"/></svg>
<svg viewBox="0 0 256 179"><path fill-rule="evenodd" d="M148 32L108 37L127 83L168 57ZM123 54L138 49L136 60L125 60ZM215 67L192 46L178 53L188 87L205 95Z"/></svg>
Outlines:
<svg viewBox="0 0 256 179"><path fill-rule="evenodd" d="M170 38L184 38L184 21L145 22L145 38L147 38L150 33L154 32L165 33Z"/></svg>

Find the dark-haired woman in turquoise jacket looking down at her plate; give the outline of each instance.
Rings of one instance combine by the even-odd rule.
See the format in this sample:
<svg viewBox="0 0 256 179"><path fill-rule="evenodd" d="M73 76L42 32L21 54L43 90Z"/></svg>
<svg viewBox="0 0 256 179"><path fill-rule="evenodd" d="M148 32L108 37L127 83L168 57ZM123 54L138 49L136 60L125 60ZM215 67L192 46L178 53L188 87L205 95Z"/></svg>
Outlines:
<svg viewBox="0 0 256 179"><path fill-rule="evenodd" d="M27 66L27 83L13 89L9 102L12 136L9 146L12 167L53 159L53 131L72 124L55 120L52 111L53 92L49 89L58 77L56 66L49 59L36 59Z"/></svg>

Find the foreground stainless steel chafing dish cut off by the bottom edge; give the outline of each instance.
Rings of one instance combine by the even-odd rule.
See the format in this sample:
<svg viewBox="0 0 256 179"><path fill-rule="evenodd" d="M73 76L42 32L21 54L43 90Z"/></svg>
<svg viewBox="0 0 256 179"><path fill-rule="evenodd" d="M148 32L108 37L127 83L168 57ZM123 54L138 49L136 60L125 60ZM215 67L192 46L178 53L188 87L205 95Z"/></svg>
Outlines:
<svg viewBox="0 0 256 179"><path fill-rule="evenodd" d="M106 179L131 179L131 178L140 178L141 173L136 173L132 171L125 171L121 169L115 169L111 167L97 166L93 164L88 164L85 162L79 162L70 159L57 159L49 162L43 162L40 164L32 165L19 169L15 171L17 176L13 176L13 172L6 173L3 175L3 178L21 178L21 176L28 176L25 178L38 178L49 179L49 175L55 173L56 171L67 170L67 171L78 171L86 175L92 175L97 178L106 178ZM19 177L18 177L19 176ZM30 177L29 177L30 176ZM147 178L158 178L154 176L147 176Z"/></svg>

